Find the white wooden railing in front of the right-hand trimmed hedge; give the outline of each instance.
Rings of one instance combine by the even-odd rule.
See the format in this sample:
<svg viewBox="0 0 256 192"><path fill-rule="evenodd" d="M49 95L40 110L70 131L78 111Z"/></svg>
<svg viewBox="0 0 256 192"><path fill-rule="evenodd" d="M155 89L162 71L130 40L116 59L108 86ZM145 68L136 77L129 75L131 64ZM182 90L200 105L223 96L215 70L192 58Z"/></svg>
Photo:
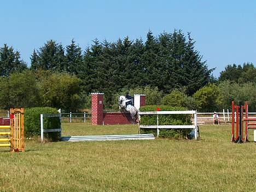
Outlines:
<svg viewBox="0 0 256 192"><path fill-rule="evenodd" d="M157 136L159 137L159 129L194 129L195 139L197 139L197 112L196 110L177 110L177 111L155 111L155 112L139 112L141 115L156 115L156 125L141 125L139 121L139 132L140 129L156 129ZM169 115L169 114L192 114L194 117L194 125L159 125L158 115ZM139 117L140 119L141 117Z"/></svg>

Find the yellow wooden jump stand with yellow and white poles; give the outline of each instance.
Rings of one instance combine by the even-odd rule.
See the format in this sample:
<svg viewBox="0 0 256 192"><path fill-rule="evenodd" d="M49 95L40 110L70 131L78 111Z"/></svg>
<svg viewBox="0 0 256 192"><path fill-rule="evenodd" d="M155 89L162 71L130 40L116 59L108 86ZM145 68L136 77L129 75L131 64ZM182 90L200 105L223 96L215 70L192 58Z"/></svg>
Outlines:
<svg viewBox="0 0 256 192"><path fill-rule="evenodd" d="M1 125L0 147L10 147L10 152L24 152L24 108L10 109L10 125ZM2 143L3 142L3 143Z"/></svg>

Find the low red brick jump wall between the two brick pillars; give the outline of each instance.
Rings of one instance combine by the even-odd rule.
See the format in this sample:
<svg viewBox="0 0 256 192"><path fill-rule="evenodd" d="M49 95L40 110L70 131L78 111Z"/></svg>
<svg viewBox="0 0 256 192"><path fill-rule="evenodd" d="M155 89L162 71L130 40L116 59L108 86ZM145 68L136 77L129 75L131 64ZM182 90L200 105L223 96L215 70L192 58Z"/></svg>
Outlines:
<svg viewBox="0 0 256 192"><path fill-rule="evenodd" d="M132 118L130 113L122 112L104 112L103 113L103 124L104 125L123 125L132 124Z"/></svg>

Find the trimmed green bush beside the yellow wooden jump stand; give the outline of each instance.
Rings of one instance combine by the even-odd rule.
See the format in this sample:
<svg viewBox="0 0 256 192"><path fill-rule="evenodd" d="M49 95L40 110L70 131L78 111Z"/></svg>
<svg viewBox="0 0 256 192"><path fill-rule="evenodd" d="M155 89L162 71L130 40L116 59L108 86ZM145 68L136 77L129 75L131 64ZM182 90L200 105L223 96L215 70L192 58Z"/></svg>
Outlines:
<svg viewBox="0 0 256 192"><path fill-rule="evenodd" d="M25 136L39 136L40 135L40 114L57 114L57 109L51 107L34 107L25 110ZM44 129L57 129L61 127L59 117L46 118L44 117ZM51 141L58 141L60 139L59 132L44 133L44 137Z"/></svg>

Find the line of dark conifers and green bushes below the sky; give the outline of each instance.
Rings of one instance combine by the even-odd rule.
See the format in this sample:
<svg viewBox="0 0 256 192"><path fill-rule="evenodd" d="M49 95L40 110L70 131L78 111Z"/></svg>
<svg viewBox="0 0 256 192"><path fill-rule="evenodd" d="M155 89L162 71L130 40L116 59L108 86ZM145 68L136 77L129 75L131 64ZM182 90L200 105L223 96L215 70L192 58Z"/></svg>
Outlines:
<svg viewBox="0 0 256 192"><path fill-rule="evenodd" d="M117 94L150 90L148 94L152 96L147 97L148 104L171 104L167 96L172 98L181 93L185 96L183 105L206 110L212 107L203 107L207 104L199 102L196 95L200 95L200 90L216 86L213 92L219 94L229 83L234 86L250 83L252 90L255 89L252 63L228 65L219 79L215 79L214 68L208 69L194 44L190 33L185 35L177 30L158 36L149 31L145 42L129 37L116 42L95 39L84 51L74 39L66 47L49 40L33 50L30 67L20 59L19 51L4 44L0 48L0 107L50 106L77 110L89 107L90 92L98 91L105 93L106 108L115 108ZM26 88L28 85L30 88ZM210 106L224 105L220 101L226 97L214 98L218 98L218 102Z"/></svg>

